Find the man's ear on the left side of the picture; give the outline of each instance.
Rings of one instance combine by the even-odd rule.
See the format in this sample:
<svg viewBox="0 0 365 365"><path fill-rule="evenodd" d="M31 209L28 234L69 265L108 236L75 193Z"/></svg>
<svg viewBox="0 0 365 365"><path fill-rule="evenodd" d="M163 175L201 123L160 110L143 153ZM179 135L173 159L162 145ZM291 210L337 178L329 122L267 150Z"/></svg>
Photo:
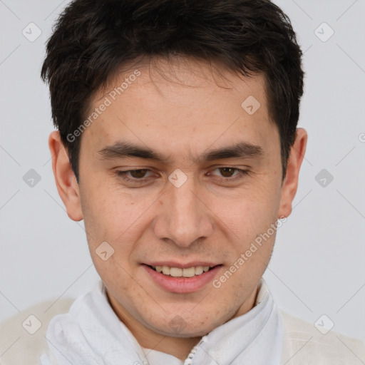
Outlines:
<svg viewBox="0 0 365 365"><path fill-rule="evenodd" d="M66 207L67 215L71 220L82 220L83 213L78 183L58 130L49 135L48 145L51 150L52 169L58 194Z"/></svg>

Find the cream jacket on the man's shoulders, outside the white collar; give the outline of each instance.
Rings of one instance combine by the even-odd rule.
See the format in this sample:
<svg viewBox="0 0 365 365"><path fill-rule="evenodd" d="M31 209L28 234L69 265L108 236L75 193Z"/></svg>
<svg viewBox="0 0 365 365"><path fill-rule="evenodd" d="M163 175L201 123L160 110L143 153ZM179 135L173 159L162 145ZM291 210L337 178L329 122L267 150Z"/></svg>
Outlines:
<svg viewBox="0 0 365 365"><path fill-rule="evenodd" d="M48 344L45 337L48 323L57 314L68 312L72 303L71 299L60 299L48 309L52 302L44 302L3 322L0 325L0 364L41 364L40 355L47 354L48 346L53 346ZM314 327L314 324L304 322L282 311L280 314L284 326L280 365L365 364L365 344L362 341L332 331L322 334ZM29 317L31 315L36 319ZM29 333L35 330L34 334ZM120 361L120 365L124 365L123 361Z"/></svg>

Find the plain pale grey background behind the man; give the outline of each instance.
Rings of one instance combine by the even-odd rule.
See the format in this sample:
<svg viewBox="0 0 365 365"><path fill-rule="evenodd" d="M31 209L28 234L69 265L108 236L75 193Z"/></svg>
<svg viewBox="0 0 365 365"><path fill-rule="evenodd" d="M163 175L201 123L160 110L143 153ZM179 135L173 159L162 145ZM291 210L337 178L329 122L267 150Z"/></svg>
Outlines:
<svg viewBox="0 0 365 365"><path fill-rule="evenodd" d="M365 0L275 3L305 52L299 126L309 143L294 210L264 277L290 314L312 323L326 314L334 331L365 339ZM76 298L98 280L83 222L67 217L53 182L53 126L39 77L44 43L66 4L0 1L0 320L46 299ZM31 22L41 30L34 41ZM324 22L334 30L327 41ZM23 180L30 169L41 177L33 187Z"/></svg>

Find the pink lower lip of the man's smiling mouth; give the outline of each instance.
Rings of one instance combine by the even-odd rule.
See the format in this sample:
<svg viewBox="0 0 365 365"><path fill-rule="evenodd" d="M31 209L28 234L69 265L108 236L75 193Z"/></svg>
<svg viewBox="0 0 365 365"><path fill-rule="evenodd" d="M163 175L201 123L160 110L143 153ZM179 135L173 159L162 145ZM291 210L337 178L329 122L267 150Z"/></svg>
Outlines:
<svg viewBox="0 0 365 365"><path fill-rule="evenodd" d="M195 277L170 277L160 272L151 269L149 266L143 264L144 269L150 274L150 277L163 289L168 292L186 294L197 292L204 287L207 283L212 282L217 272L222 267L221 265L210 269L207 272L203 272Z"/></svg>

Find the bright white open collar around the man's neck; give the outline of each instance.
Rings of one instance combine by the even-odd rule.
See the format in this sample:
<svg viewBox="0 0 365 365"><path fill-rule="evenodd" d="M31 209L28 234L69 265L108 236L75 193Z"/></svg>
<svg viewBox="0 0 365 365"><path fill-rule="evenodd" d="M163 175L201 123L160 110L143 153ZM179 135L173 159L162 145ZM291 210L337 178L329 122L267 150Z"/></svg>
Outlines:
<svg viewBox="0 0 365 365"><path fill-rule="evenodd" d="M54 356L53 364L116 365L148 364L150 361L149 356L146 360L130 330L113 312L102 282L92 292L76 299L67 314L53 317L46 338ZM176 365L278 365L281 351L281 317L262 279L255 307L203 336L185 361L160 351L155 351L153 356L157 353L157 359L161 356L176 359ZM165 361L151 360L154 362L150 365L165 364ZM51 363L42 361L42 365Z"/></svg>

